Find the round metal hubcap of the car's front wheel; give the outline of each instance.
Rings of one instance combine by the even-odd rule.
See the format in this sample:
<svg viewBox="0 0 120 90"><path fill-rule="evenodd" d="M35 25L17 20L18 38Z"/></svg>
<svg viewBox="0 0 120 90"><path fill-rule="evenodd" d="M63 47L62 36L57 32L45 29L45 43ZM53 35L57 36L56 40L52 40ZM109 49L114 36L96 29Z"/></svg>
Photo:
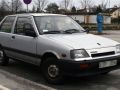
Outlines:
<svg viewBox="0 0 120 90"><path fill-rule="evenodd" d="M50 77L55 78L59 74L59 68L56 65L50 65L48 67L48 74Z"/></svg>

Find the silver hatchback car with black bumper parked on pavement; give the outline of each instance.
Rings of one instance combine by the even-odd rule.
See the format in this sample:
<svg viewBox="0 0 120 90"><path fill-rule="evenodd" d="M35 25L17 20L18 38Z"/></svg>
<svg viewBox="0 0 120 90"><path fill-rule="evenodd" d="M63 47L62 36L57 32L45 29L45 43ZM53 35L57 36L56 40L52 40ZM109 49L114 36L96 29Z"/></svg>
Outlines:
<svg viewBox="0 0 120 90"><path fill-rule="evenodd" d="M17 14L0 23L0 63L9 58L40 66L49 83L64 76L106 74L120 67L120 43L87 34L57 14Z"/></svg>

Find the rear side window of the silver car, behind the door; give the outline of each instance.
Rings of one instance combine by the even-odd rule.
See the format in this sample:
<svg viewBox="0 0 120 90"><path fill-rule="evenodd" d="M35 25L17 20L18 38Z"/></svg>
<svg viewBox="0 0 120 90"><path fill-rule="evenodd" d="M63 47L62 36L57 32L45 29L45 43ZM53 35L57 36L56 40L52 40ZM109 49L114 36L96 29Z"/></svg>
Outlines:
<svg viewBox="0 0 120 90"><path fill-rule="evenodd" d="M1 24L0 31L1 31L1 32L11 33L14 20L15 20L15 17L14 17L14 16L9 16L9 17L7 17L7 18L3 21L3 23Z"/></svg>

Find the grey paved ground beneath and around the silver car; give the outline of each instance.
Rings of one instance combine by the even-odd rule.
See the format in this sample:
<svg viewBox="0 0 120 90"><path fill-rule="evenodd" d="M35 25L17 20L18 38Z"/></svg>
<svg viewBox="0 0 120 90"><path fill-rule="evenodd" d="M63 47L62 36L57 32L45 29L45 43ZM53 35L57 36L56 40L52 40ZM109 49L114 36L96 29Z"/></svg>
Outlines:
<svg viewBox="0 0 120 90"><path fill-rule="evenodd" d="M120 42L120 31L104 33L102 36ZM39 68L34 65L11 61L7 67L0 66L0 90L51 90L52 88L58 90L120 90L120 70L102 76L67 78L64 85L50 85L45 82Z"/></svg>

